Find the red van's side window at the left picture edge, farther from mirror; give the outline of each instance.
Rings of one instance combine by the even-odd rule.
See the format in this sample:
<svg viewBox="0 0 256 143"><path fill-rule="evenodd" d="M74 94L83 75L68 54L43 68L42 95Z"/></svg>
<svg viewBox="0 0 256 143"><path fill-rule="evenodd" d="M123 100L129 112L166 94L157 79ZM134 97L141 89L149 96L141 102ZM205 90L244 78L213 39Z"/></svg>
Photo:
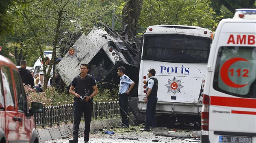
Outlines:
<svg viewBox="0 0 256 143"><path fill-rule="evenodd" d="M3 87L4 87L4 90L6 91L6 94L5 94L6 107L8 107L8 106L15 107L15 99L14 99L14 93L13 93L13 82L12 82L11 70L10 70L9 66L2 65L2 78L3 78Z"/></svg>

